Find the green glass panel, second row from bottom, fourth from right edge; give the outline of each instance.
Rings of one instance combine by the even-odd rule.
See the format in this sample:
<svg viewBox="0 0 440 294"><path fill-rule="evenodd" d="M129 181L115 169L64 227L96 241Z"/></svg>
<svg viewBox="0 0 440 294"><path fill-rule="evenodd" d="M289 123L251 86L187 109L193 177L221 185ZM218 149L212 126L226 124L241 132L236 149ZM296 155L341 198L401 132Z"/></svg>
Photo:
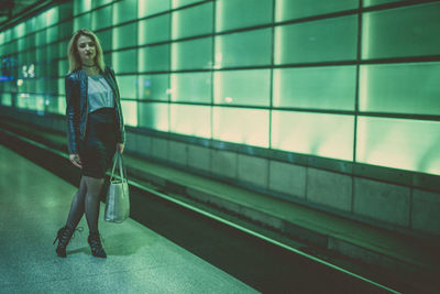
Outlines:
<svg viewBox="0 0 440 294"><path fill-rule="evenodd" d="M173 74L172 100L211 104L211 73Z"/></svg>

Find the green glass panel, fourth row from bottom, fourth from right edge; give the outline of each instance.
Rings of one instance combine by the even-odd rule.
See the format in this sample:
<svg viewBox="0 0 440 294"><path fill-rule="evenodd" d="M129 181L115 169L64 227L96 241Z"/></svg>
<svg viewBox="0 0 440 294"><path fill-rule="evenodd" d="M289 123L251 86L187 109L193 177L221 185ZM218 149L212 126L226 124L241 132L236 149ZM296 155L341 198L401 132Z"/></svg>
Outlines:
<svg viewBox="0 0 440 294"><path fill-rule="evenodd" d="M212 2L173 12L173 40L212 32Z"/></svg>

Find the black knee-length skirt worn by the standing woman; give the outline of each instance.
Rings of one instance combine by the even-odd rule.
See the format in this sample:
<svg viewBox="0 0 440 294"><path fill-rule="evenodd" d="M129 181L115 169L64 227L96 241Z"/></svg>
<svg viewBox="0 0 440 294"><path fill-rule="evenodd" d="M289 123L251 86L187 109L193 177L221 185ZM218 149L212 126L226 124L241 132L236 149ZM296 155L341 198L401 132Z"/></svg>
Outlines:
<svg viewBox="0 0 440 294"><path fill-rule="evenodd" d="M86 138L79 144L82 175L103 178L117 150L114 108L100 108L88 115Z"/></svg>

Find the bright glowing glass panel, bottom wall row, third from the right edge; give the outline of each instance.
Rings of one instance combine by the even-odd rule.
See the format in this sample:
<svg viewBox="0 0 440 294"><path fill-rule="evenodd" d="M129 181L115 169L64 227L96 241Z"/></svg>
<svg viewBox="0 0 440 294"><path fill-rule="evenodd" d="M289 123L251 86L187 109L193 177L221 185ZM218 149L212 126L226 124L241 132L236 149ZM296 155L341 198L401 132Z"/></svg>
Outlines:
<svg viewBox="0 0 440 294"><path fill-rule="evenodd" d="M268 148L268 110L212 108L212 139Z"/></svg>

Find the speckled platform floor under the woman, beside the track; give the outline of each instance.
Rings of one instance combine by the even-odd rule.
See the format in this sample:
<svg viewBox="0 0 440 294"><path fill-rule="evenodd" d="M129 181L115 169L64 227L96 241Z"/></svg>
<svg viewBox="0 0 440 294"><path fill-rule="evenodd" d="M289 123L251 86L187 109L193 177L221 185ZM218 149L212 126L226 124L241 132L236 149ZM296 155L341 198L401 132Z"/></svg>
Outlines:
<svg viewBox="0 0 440 294"><path fill-rule="evenodd" d="M52 244L76 187L0 145L0 293L256 293L148 228L99 218L106 260L85 217L58 258Z"/></svg>

